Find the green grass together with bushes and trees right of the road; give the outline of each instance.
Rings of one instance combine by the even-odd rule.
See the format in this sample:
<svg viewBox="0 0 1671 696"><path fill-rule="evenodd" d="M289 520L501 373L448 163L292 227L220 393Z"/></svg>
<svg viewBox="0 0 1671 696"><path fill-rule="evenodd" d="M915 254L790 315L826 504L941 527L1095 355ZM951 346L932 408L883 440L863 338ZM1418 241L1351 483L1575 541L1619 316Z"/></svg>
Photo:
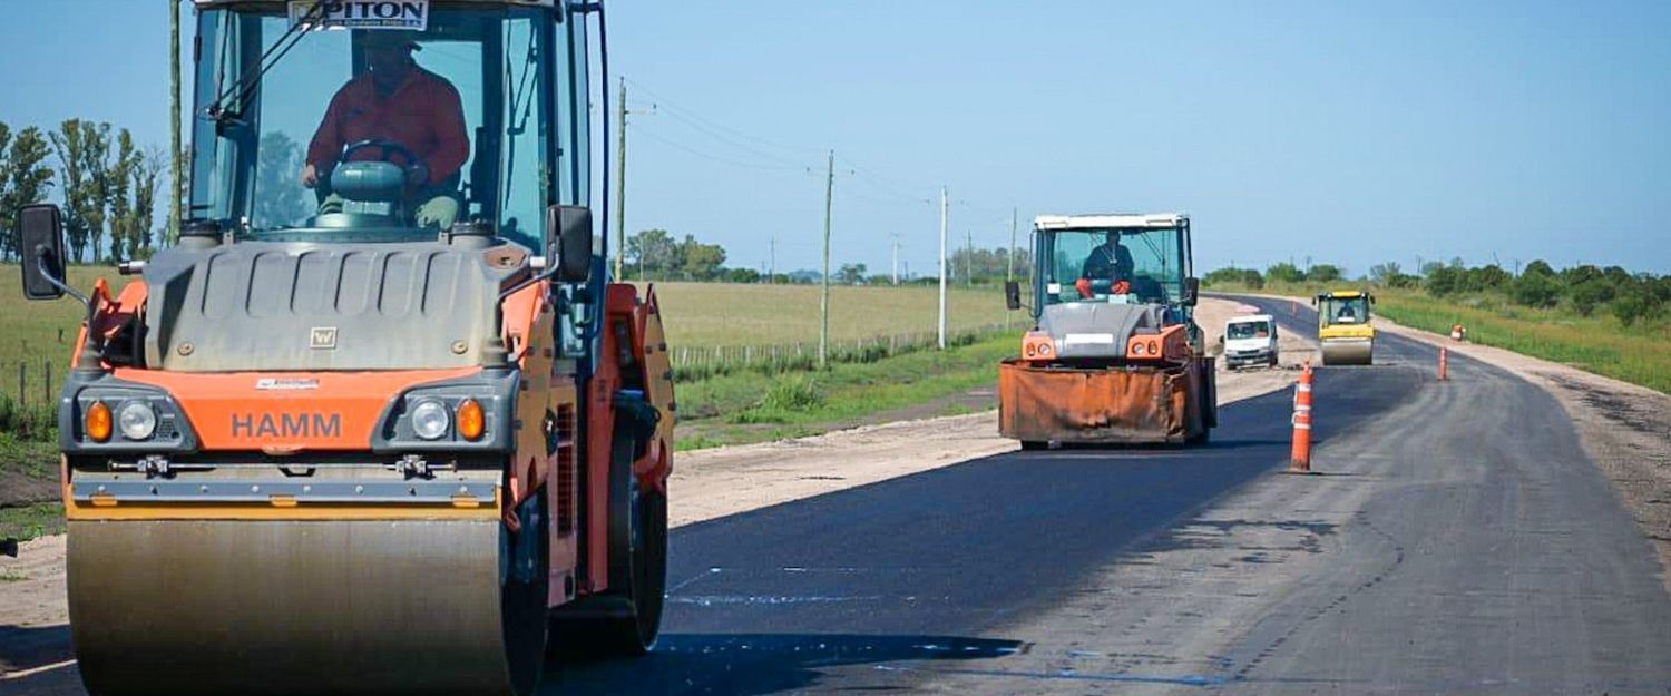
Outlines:
<svg viewBox="0 0 1671 696"><path fill-rule="evenodd" d="M1323 279L1318 269L1325 269ZM1218 292L1293 297L1370 285L1375 310L1399 324L1437 334L1462 324L1472 342L1671 394L1671 275L1631 274L1616 265L1556 270L1542 260L1519 274L1460 260L1427 264L1419 275L1379 264L1359 280L1345 280L1335 267L1310 270L1292 264L1263 274L1218 269L1203 284Z"/></svg>

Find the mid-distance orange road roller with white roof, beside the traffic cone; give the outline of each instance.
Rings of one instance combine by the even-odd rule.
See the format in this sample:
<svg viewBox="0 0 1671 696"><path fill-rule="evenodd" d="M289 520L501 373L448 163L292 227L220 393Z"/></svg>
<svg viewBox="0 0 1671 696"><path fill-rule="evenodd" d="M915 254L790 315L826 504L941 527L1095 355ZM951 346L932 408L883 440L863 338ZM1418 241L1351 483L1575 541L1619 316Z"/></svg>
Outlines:
<svg viewBox="0 0 1671 696"><path fill-rule="evenodd" d="M1033 259L1038 324L998 369L999 432L1023 449L1205 442L1218 397L1188 215L1044 215ZM1019 284L1004 292L1023 307Z"/></svg>

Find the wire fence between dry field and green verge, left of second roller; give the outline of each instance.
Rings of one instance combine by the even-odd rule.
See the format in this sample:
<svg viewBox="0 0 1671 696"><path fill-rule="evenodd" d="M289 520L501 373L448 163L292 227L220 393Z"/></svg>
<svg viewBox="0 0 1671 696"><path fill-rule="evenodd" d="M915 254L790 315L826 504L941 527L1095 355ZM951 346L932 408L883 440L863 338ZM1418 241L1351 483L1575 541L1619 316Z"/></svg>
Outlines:
<svg viewBox="0 0 1671 696"><path fill-rule="evenodd" d="M968 345L984 337L1011 330L1006 324L986 324L952 330L946 335L949 345ZM884 357L929 351L939 344L939 334L921 330L911 334L874 335L834 340L829 347L830 364L876 362ZM734 372L802 372L819 366L817 342L764 344L764 345L698 345L670 347L673 381L700 381Z"/></svg>

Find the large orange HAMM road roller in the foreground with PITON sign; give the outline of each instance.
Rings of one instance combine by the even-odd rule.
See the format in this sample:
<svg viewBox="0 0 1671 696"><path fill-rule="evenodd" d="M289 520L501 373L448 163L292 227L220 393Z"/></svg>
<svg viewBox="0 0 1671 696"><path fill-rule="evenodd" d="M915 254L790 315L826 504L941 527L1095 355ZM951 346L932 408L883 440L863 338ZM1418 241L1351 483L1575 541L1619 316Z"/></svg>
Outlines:
<svg viewBox="0 0 1671 696"><path fill-rule="evenodd" d="M87 689L530 694L548 648L647 651L673 387L585 207L600 7L196 23L177 244L84 295L55 207L17 230L25 294L87 305L58 401Z"/></svg>

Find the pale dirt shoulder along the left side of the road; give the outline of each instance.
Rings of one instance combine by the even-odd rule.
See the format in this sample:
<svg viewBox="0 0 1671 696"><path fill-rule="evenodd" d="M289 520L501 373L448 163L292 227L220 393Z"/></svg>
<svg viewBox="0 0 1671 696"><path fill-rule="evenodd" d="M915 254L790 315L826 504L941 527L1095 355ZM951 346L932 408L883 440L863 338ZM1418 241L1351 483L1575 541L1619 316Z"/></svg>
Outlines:
<svg viewBox="0 0 1671 696"><path fill-rule="evenodd" d="M1237 304L1203 299L1198 322L1208 340L1223 330L1223 320L1238 314ZM1216 327L1216 329L1213 329ZM1283 364L1297 366L1315 354L1303 339L1283 340ZM1292 369L1250 369L1225 372L1220 367L1218 401L1230 404L1277 389L1295 379ZM971 399L991 392L971 392ZM871 424L822 436L777 442L698 449L675 456L670 524L683 526L760 507L911 476L1018 449L1016 441L998 436L998 412ZM18 557L0 556L0 673L67 659L69 646L55 654L8 658L5 644L17 629L62 626L69 621L63 598L63 536L22 544ZM47 659L50 658L50 659Z"/></svg>

